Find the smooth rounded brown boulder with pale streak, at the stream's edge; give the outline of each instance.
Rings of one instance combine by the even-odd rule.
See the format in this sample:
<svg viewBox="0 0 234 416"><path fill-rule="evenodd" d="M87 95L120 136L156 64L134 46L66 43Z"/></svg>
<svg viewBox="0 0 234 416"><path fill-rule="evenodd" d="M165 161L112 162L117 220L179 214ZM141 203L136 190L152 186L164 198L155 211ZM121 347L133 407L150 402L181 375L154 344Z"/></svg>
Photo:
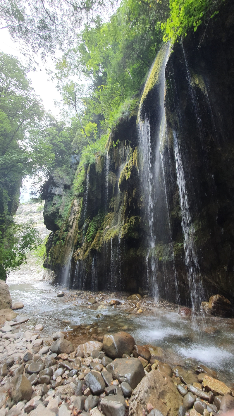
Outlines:
<svg viewBox="0 0 234 416"><path fill-rule="evenodd" d="M111 358L121 358L123 354L130 355L134 345L134 338L123 331L116 334L106 334L103 338L103 350Z"/></svg>

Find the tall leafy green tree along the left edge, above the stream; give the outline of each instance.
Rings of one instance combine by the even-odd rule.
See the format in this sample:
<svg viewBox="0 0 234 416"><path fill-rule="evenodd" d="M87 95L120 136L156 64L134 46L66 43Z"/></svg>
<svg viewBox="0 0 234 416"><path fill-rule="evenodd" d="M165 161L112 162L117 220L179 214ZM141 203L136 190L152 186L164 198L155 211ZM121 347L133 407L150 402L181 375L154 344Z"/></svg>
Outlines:
<svg viewBox="0 0 234 416"><path fill-rule="evenodd" d="M14 222L22 178L36 173L53 157L51 146L39 136L30 140L43 109L17 59L0 53L0 278L25 261L26 247L36 244L32 226ZM31 236L30 236L31 233Z"/></svg>

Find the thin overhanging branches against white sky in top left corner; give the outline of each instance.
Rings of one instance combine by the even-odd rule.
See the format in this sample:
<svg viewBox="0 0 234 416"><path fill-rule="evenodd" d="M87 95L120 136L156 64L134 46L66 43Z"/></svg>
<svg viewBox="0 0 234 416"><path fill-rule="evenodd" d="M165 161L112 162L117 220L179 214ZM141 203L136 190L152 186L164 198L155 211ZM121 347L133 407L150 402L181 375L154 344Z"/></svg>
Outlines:
<svg viewBox="0 0 234 416"><path fill-rule="evenodd" d="M54 54L73 44L84 19L111 5L104 0L0 0L0 29L7 28L23 51Z"/></svg>

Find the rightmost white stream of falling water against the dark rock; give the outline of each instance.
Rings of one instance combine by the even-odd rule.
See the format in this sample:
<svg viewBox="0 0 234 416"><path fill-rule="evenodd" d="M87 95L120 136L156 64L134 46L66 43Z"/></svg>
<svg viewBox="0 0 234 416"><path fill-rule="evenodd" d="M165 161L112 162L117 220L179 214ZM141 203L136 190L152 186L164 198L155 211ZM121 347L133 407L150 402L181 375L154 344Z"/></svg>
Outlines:
<svg viewBox="0 0 234 416"><path fill-rule="evenodd" d="M182 213L182 230L184 236L185 249L185 265L187 268L187 277L190 288L190 297L192 309L195 310L201 304L204 298L201 275L199 270L199 263L197 258L197 249L195 245L195 229L192 224L190 214L190 203L187 194L187 187L185 182L185 173L182 165L180 144L177 139L177 134L173 131L174 137L174 152L177 173L177 184L179 188L180 207Z"/></svg>

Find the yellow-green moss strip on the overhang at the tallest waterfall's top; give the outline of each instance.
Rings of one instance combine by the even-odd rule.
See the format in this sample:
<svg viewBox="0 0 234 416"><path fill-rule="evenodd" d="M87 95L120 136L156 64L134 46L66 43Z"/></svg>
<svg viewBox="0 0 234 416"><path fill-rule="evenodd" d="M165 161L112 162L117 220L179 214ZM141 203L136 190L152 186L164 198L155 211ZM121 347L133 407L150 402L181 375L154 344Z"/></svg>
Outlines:
<svg viewBox="0 0 234 416"><path fill-rule="evenodd" d="M140 107L142 106L142 104L147 99L148 94L160 82L160 77L162 75L162 71L163 71L163 68L164 68L164 61L165 61L166 53L167 53L167 46L164 45L160 49L160 51L158 52L158 55L155 59L155 63L153 65L153 68L150 72L150 75L149 75L147 81L146 81L144 92L143 92L143 95L142 95L141 100L140 100Z"/></svg>

